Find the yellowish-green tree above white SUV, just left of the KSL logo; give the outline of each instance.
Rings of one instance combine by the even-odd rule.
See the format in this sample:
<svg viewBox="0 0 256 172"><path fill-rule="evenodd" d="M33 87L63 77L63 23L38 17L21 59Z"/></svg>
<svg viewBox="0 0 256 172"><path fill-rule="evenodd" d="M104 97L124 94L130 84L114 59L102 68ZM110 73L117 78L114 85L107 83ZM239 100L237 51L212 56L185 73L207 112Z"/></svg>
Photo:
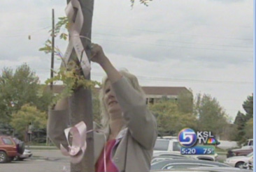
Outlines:
<svg viewBox="0 0 256 172"><path fill-rule="evenodd" d="M178 134L185 127L196 127L196 118L178 111L178 104L171 100L162 100L150 105L150 110L157 118L158 132L161 135Z"/></svg>

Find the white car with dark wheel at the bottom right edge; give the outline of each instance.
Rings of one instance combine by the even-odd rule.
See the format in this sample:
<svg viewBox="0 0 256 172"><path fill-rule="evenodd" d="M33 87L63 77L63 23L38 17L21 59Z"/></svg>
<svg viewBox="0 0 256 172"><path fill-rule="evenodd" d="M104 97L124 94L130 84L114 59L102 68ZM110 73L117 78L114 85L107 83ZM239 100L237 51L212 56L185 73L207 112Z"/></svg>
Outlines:
<svg viewBox="0 0 256 172"><path fill-rule="evenodd" d="M230 166L234 166L242 169L243 164L248 163L252 157L253 157L253 153L250 153L246 156L229 157L225 160L225 164L229 164Z"/></svg>

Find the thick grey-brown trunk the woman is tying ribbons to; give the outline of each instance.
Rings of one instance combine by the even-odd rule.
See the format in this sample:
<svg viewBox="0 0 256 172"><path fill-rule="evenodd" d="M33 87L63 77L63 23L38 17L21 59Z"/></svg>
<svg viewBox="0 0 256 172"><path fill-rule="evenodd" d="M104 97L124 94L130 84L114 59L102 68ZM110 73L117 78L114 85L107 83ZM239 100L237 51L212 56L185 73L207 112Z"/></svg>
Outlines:
<svg viewBox="0 0 256 172"><path fill-rule="evenodd" d="M67 0L69 3L71 0ZM80 31L80 39L83 43L85 53L88 57L91 56L90 40L83 37L91 39L92 35L92 13L94 7L94 0L77 0L80 3L83 12L83 27ZM74 9L75 11L77 9ZM75 16L76 17L76 16ZM71 59L78 61L76 52L73 49L71 54ZM87 76L90 80L90 75ZM87 131L93 129L93 119L92 119L92 92L90 89L78 88L74 91L73 95L69 97L69 119L71 126L76 125L80 121L84 121L87 125ZM85 155L82 161L78 164L71 164L71 172L93 172L94 171L94 139L93 132L87 133L87 148L85 150Z"/></svg>

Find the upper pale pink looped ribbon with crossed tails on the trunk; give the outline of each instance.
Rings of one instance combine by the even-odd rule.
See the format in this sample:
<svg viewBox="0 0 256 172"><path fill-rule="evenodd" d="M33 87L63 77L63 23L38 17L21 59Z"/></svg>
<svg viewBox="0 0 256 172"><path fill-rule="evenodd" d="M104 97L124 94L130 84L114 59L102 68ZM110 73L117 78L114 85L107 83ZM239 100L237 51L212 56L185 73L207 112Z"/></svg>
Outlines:
<svg viewBox="0 0 256 172"><path fill-rule="evenodd" d="M74 10L77 9L77 13ZM91 67L90 61L85 53L85 49L83 47L82 41L80 38L86 38L84 36L80 36L80 31L83 27L83 12L78 0L71 0L66 6L66 16L69 19L70 29L69 29L69 45L66 49L64 54L64 62L62 62L62 67L64 66L63 63L68 64L69 58L71 56L73 48L75 49L76 55L80 58L80 65L83 70L83 75L86 77L89 75ZM75 16L76 15L76 16ZM75 22L73 22L73 17L76 17ZM89 38L87 38L89 39ZM90 40L90 39L89 39Z"/></svg>

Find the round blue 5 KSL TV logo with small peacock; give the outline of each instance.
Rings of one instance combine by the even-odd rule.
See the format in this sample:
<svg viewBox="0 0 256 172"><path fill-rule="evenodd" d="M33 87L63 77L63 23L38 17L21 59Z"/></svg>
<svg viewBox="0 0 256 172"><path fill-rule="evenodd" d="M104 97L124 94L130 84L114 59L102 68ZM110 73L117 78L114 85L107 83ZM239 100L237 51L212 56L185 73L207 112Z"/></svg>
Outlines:
<svg viewBox="0 0 256 172"><path fill-rule="evenodd" d="M178 141L180 145L185 147L192 147L197 142L199 144L215 145L218 144L212 132L194 132L191 128L185 128L178 134Z"/></svg>

